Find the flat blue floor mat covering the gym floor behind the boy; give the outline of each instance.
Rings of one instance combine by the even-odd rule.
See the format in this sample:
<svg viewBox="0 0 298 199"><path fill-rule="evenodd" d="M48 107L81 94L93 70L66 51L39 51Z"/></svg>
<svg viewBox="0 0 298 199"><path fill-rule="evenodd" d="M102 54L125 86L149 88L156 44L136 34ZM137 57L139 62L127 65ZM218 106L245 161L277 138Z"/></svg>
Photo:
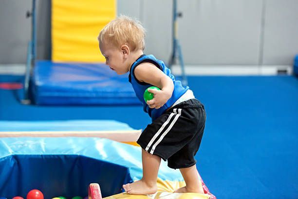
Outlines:
<svg viewBox="0 0 298 199"><path fill-rule="evenodd" d="M21 81L0 76L0 81ZM218 199L298 198L298 79L188 77L207 121L197 168ZM135 129L150 122L140 105L21 105L0 90L1 120L114 119Z"/></svg>

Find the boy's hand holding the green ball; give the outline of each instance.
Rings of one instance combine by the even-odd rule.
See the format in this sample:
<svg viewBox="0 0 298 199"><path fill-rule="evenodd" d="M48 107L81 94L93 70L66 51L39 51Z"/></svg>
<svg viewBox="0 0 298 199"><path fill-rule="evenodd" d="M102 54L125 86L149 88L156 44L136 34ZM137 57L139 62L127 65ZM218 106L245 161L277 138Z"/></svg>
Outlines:
<svg viewBox="0 0 298 199"><path fill-rule="evenodd" d="M150 108L159 109L162 107L168 99L172 96L171 93L163 90L156 90L156 89L148 89L150 93L153 93L154 98L152 100L148 100L147 104Z"/></svg>

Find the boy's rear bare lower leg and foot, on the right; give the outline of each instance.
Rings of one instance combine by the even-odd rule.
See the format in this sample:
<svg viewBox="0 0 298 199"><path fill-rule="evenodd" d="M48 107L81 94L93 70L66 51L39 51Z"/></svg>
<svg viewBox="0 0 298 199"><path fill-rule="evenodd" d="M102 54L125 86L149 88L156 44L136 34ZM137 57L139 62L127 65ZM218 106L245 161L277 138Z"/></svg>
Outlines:
<svg viewBox="0 0 298 199"><path fill-rule="evenodd" d="M175 193L201 193L204 194L202 187L202 181L199 177L199 173L196 165L188 168L180 169L183 179L186 183L185 187L181 187L175 191Z"/></svg>

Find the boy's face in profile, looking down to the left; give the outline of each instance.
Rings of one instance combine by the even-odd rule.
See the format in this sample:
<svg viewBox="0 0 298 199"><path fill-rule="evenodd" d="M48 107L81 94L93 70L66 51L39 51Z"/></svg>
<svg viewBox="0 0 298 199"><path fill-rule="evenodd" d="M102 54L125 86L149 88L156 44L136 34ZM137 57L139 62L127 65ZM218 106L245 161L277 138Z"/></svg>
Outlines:
<svg viewBox="0 0 298 199"><path fill-rule="evenodd" d="M126 66L126 62L120 48L118 49L111 45L99 42L99 49L106 59L106 65L110 66L111 70L115 71L118 75L123 75L128 72L128 67Z"/></svg>

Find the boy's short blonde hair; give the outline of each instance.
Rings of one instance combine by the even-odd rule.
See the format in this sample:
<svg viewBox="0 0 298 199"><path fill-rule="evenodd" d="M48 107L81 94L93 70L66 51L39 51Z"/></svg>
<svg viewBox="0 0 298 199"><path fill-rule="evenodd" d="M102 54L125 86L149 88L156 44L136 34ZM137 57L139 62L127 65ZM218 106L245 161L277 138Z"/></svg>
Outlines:
<svg viewBox="0 0 298 199"><path fill-rule="evenodd" d="M145 49L145 28L138 20L120 16L108 23L99 33L98 41L118 47L127 44L131 51Z"/></svg>

